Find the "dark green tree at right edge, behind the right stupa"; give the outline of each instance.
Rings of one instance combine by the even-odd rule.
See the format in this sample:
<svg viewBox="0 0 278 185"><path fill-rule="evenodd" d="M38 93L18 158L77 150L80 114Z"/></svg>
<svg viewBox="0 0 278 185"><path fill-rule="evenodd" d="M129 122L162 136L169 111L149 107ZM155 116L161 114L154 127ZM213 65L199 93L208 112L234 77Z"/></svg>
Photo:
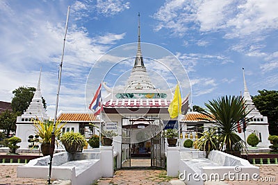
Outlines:
<svg viewBox="0 0 278 185"><path fill-rule="evenodd" d="M268 116L268 130L270 135L278 133L278 91L259 90L259 95L253 96L252 100L256 108Z"/></svg>

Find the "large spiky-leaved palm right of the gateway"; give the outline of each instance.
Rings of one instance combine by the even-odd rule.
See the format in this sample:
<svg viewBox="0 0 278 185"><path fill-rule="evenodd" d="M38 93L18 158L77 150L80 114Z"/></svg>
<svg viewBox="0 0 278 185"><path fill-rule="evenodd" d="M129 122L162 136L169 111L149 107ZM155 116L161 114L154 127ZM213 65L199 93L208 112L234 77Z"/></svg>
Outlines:
<svg viewBox="0 0 278 185"><path fill-rule="evenodd" d="M208 116L207 120L214 120L218 126L220 150L226 152L240 151L245 148L245 142L238 136L238 122L249 114L246 111L245 101L240 96L222 96L217 100L205 103L208 112L201 112Z"/></svg>

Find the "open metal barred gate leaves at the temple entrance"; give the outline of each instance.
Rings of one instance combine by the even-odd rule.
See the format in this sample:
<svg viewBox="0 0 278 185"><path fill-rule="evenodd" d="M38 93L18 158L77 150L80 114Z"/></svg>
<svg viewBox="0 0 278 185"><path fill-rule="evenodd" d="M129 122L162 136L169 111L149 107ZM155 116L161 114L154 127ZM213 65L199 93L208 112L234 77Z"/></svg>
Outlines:
<svg viewBox="0 0 278 185"><path fill-rule="evenodd" d="M134 129L133 123L147 122L145 130ZM151 166L165 167L165 139L163 136L163 121L160 118L122 118L122 167L131 166L131 145L141 140L151 141ZM136 135L136 138L135 136ZM140 135L140 136L139 136ZM140 141L138 141L138 139ZM145 141L145 140L144 140Z"/></svg>

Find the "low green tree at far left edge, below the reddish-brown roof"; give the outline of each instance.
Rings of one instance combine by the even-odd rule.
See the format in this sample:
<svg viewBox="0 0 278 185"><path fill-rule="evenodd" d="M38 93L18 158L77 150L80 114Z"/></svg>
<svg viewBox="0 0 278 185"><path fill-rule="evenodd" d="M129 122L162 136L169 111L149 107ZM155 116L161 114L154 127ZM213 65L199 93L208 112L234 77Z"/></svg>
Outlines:
<svg viewBox="0 0 278 185"><path fill-rule="evenodd" d="M0 114L0 129L4 130L6 137L10 135L10 132L15 132L17 116L20 116L20 112L12 112L9 110Z"/></svg>

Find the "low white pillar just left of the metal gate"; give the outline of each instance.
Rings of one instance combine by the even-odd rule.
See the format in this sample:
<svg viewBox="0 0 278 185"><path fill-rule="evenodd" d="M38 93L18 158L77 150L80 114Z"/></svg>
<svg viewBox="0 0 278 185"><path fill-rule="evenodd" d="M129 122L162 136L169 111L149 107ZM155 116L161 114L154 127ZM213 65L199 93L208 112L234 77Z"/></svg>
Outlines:
<svg viewBox="0 0 278 185"><path fill-rule="evenodd" d="M101 177L113 177L113 146L100 146Z"/></svg>

